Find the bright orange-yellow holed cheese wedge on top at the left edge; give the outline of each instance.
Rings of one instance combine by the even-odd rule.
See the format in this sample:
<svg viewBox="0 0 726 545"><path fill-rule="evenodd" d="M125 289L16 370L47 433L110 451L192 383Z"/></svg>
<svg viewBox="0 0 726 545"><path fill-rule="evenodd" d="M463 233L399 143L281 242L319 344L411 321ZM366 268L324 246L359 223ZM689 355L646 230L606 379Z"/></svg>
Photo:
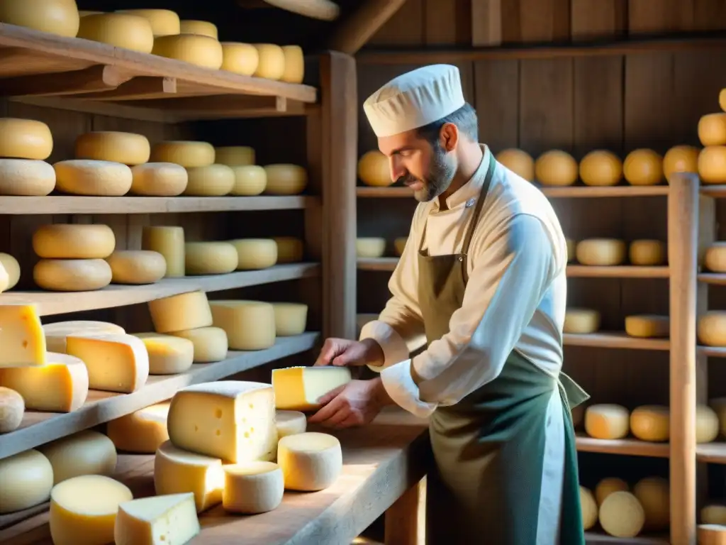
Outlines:
<svg viewBox="0 0 726 545"><path fill-rule="evenodd" d="M44 366L46 342L35 304L0 304L0 368Z"/></svg>

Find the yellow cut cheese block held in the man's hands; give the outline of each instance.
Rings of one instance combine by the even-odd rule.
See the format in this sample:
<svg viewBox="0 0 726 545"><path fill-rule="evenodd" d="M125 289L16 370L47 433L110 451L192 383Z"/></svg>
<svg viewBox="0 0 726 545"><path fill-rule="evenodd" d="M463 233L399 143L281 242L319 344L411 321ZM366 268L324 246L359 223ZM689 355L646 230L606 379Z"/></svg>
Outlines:
<svg viewBox="0 0 726 545"><path fill-rule="evenodd" d="M320 397L351 382L347 367L287 367L272 370L275 404L289 411L313 411Z"/></svg>

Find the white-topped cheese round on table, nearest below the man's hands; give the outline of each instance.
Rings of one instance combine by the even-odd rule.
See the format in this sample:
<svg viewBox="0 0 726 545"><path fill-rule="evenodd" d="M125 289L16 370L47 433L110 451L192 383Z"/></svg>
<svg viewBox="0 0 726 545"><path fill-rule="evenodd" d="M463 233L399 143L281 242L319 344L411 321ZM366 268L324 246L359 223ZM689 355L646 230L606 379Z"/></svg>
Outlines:
<svg viewBox="0 0 726 545"><path fill-rule="evenodd" d="M277 444L277 463L285 489L319 491L335 483L343 471L343 451L333 435L304 432L287 435Z"/></svg>

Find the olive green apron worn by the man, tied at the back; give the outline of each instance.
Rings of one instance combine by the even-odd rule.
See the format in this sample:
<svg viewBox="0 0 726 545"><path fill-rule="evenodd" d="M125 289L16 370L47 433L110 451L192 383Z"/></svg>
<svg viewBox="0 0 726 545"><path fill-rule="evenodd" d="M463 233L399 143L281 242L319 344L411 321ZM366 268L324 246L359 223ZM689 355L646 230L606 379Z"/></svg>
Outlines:
<svg viewBox="0 0 726 545"><path fill-rule="evenodd" d="M462 305L467 252L496 164L490 155L460 254L422 251L424 227L418 303L429 343L449 332ZM555 388L565 425L559 545L584 545L570 409L589 396L565 374L552 378L515 351L497 379L431 416L436 467L428 475L427 545L537 545L545 419Z"/></svg>

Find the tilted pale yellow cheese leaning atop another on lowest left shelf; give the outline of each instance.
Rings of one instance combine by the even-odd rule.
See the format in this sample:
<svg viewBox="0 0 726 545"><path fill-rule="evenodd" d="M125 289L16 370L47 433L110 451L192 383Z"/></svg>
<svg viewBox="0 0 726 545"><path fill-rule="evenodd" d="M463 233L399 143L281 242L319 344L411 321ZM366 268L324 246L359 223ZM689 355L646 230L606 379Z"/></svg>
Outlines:
<svg viewBox="0 0 726 545"><path fill-rule="evenodd" d="M171 333L212 325L207 294L190 291L149 302L149 312L157 333Z"/></svg>

